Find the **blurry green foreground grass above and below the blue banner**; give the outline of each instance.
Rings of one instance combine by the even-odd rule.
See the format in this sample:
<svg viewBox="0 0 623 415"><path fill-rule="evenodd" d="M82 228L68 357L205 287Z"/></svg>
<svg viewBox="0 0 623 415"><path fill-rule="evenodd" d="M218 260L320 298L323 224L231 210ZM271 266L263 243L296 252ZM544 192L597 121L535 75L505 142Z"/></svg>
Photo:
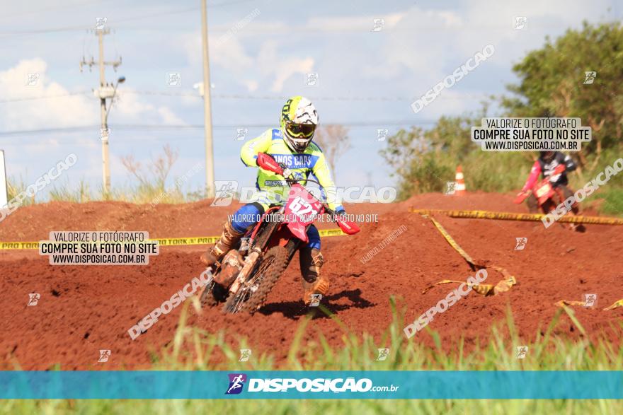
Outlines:
<svg viewBox="0 0 623 415"><path fill-rule="evenodd" d="M321 310L318 312L326 312ZM186 325L188 304L171 344L153 353L154 369L159 370L623 370L623 348L588 340L571 341L552 336L556 323L571 318L583 332L569 308L556 313L549 327L539 330L535 341L518 336L510 311L505 322L492 328L491 339L467 351L460 341L452 352L442 350L439 334L426 329L407 340L402 332L402 314L394 308L394 319L380 341L358 335L345 327L343 346L333 348L322 336L305 342L304 334L314 324L311 316L302 319L292 342L287 362L275 366L270 354L253 354L251 361L238 362L238 349L248 345L229 345L224 332L208 333ZM568 324L568 322L565 322ZM622 327L616 327L619 332ZM503 335L502 333L506 334ZM543 332L543 334L541 334ZM418 343L421 335L432 336L435 346ZM515 346L527 345L525 359L515 358ZM375 361L377 348L389 347L387 361ZM215 353L226 361L210 363ZM207 385L198 385L207 387ZM423 399L423 400L11 400L0 407L2 414L617 414L623 402L614 400L564 399Z"/></svg>

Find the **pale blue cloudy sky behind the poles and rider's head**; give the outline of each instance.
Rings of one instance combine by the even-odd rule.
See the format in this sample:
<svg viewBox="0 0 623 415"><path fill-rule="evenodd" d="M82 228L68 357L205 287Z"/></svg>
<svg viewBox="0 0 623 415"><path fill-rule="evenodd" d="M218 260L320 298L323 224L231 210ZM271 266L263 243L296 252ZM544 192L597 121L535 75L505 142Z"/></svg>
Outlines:
<svg viewBox="0 0 623 415"><path fill-rule="evenodd" d="M210 81L216 180L252 186L256 171L239 158L246 140L278 127L288 97L316 105L320 124L343 124L352 147L333 172L338 186L394 185L379 151L378 129L429 128L441 115L462 115L518 80L513 64L545 38L583 20L620 20L616 1L282 1L208 0ZM34 183L69 153L78 162L59 179L101 185L98 59L93 32L106 18L105 61L122 59L106 79L125 76L110 109L113 188L132 185L121 163L143 165L165 145L179 152L169 185L205 165L199 0L2 0L0 149L8 177ZM516 18L525 17L523 28ZM375 19L383 19L374 30ZM494 54L418 113L411 103L486 45ZM590 62L587 62L590 66ZM590 70L587 67L586 70ZM307 85L307 74L317 74ZM38 74L28 85L28 74ZM169 74L180 74L177 86ZM490 113L496 112L493 105ZM186 190L202 188L205 170ZM49 189L47 189L49 190Z"/></svg>

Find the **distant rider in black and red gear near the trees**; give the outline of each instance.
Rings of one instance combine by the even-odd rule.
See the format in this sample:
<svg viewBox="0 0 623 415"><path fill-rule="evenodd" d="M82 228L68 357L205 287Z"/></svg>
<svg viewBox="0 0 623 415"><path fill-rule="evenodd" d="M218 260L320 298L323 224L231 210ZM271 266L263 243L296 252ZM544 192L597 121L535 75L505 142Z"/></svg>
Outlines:
<svg viewBox="0 0 623 415"><path fill-rule="evenodd" d="M556 167L559 165L564 165L565 170L560 174L554 175L554 170L556 170ZM528 176L525 185L523 185L521 192L518 193L518 196L525 194L528 190L532 189L532 186L534 186L539 179L539 175L542 174L543 178L549 178L551 187L553 187L558 194L561 194L561 199L567 199L568 197L573 196L573 190L568 187L566 172L576 170L576 167L576 163L573 163L571 157L561 153L560 151L540 151L539 158L537 158L535 164L532 165L530 175ZM539 211L537 198L534 194L530 194L530 197L527 198L526 203L531 214L536 214ZM571 211L573 211L573 214L575 215L580 213L578 202L573 203Z"/></svg>

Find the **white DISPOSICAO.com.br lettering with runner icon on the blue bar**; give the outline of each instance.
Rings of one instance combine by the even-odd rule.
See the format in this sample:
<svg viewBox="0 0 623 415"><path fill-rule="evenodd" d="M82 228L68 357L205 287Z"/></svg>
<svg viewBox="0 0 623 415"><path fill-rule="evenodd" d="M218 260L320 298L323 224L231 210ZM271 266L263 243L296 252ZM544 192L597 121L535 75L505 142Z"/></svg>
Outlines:
<svg viewBox="0 0 623 415"><path fill-rule="evenodd" d="M239 394L247 376L229 373L225 394ZM249 378L247 392L396 392L399 386L374 386L368 378Z"/></svg>

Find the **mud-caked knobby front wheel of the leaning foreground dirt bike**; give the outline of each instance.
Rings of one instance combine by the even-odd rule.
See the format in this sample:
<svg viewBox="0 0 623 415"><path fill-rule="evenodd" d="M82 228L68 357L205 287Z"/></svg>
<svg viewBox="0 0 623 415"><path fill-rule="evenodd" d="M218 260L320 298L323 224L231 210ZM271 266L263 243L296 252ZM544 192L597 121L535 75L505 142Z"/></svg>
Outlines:
<svg viewBox="0 0 623 415"><path fill-rule="evenodd" d="M244 284L235 294L229 294L223 312L239 311L253 314L264 304L268 293L273 289L279 277L290 262L285 247L272 247L264 255L262 262L248 276Z"/></svg>

